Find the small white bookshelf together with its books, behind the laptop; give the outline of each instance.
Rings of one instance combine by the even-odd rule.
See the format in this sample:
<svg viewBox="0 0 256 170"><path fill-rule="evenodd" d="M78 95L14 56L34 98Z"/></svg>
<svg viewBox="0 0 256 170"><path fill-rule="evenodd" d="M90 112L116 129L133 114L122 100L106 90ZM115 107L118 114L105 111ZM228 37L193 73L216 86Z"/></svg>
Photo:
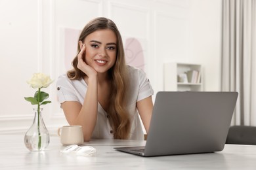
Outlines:
<svg viewBox="0 0 256 170"><path fill-rule="evenodd" d="M202 91L202 65L194 63L164 63L165 91Z"/></svg>

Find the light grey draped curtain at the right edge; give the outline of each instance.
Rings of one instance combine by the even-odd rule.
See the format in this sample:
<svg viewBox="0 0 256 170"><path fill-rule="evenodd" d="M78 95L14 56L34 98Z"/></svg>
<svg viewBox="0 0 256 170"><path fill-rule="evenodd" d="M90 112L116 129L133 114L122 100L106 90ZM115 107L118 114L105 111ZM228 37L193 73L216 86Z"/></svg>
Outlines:
<svg viewBox="0 0 256 170"><path fill-rule="evenodd" d="M221 90L238 92L232 125L256 126L256 0L223 0Z"/></svg>

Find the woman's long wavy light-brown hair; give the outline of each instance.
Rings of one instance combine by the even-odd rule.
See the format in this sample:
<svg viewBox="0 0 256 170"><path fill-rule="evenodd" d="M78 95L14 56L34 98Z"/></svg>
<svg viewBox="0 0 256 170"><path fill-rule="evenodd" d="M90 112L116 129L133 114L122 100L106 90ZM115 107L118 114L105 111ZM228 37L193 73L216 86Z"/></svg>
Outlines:
<svg viewBox="0 0 256 170"><path fill-rule="evenodd" d="M110 124L114 130L114 139L128 139L131 128L131 121L129 113L126 108L126 94L127 94L127 67L125 65L125 52L123 49L123 42L121 35L116 27L116 24L112 20L104 17L98 17L91 20L81 32L77 43L77 54L81 51L79 41L84 41L87 35L100 29L110 29L114 31L117 37L117 56L116 63L108 71L108 75L111 78L111 97L110 106L106 110L110 116ZM68 71L68 78L71 80L79 80L83 78L85 73L77 68L77 55L72 61L74 69Z"/></svg>

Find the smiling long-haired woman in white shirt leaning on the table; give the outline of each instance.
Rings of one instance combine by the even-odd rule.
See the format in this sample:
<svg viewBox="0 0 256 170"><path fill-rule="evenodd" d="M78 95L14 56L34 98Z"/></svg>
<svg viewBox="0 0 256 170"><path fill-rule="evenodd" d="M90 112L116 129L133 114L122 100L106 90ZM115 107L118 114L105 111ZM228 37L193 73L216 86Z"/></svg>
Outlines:
<svg viewBox="0 0 256 170"><path fill-rule="evenodd" d="M142 71L125 65L112 20L100 17L85 25L72 65L58 78L57 94L68 123L83 127L84 140L143 139L139 115L148 132L154 91Z"/></svg>

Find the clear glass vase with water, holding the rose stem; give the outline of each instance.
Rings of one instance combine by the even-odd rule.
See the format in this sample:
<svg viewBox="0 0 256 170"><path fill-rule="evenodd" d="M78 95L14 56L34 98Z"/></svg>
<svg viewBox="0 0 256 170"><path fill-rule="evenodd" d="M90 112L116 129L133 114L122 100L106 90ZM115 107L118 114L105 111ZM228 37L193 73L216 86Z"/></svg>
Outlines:
<svg viewBox="0 0 256 170"><path fill-rule="evenodd" d="M24 137L24 143L31 151L45 150L50 143L50 135L43 122L42 110L43 109L39 109L38 111L37 109L33 109L35 113L33 124Z"/></svg>

